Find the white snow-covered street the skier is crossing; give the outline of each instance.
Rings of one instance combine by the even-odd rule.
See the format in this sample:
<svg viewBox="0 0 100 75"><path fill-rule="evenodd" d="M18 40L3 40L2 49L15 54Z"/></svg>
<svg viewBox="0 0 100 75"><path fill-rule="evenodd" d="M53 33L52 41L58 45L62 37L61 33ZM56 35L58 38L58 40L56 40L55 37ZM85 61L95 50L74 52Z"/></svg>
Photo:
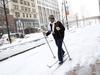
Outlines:
<svg viewBox="0 0 100 75"><path fill-rule="evenodd" d="M46 42L45 39L43 39L44 36L42 33L31 34L29 36L31 37L20 39L20 41L17 40L11 45L1 46L0 59L5 57L5 55L9 56L12 52L16 53L17 51L19 52L19 50L26 50L32 46ZM42 38L42 40L32 42L32 40L40 38ZM48 37L48 41L56 59L53 59L48 45L44 44L0 62L0 75L71 75L68 74L68 72L73 70L77 70L76 75L92 75L91 66L93 66L97 60L100 61L99 24L92 24L69 31L66 30L64 42L72 61L67 60L56 71L55 68L58 64L52 68L47 67L48 64L57 60L57 47L52 35ZM17 46L15 47L14 45ZM6 46L8 46L8 48L3 51L2 49ZM9 48L9 46L14 47ZM100 68L98 70L96 69L96 75L100 75L99 72Z"/></svg>

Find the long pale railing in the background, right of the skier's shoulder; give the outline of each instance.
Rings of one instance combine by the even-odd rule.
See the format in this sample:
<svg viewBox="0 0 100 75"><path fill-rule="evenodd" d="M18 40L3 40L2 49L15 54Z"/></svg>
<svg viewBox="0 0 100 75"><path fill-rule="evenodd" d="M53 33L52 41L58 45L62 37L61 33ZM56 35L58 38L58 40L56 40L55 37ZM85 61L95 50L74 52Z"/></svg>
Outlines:
<svg viewBox="0 0 100 75"><path fill-rule="evenodd" d="M100 23L100 16L93 16L93 17L87 17L87 18L74 18L73 20L69 20L69 28L78 28L78 27L84 27L87 25L92 25L92 24L99 24ZM66 26L66 24L65 24Z"/></svg>

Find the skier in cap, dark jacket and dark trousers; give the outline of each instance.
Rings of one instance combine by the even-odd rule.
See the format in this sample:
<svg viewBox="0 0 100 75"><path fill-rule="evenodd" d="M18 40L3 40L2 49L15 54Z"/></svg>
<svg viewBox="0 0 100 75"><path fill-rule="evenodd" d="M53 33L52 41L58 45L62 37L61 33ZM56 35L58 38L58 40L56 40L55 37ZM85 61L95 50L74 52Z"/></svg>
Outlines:
<svg viewBox="0 0 100 75"><path fill-rule="evenodd" d="M55 21L54 15L49 16L50 23L48 25L48 31L45 33L46 36L52 33L55 43L58 47L58 59L59 64L63 63L63 56L65 51L62 48L62 43L64 39L65 27L60 21Z"/></svg>

